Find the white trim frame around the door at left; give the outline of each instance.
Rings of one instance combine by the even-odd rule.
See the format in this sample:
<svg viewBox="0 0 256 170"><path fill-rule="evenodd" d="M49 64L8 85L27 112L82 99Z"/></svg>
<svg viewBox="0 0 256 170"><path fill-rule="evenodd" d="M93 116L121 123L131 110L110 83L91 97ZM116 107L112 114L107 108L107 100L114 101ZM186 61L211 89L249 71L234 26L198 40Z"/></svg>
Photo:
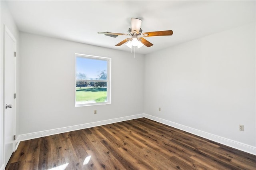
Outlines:
<svg viewBox="0 0 256 170"><path fill-rule="evenodd" d="M3 52L4 52L4 62L3 62L3 149L4 149L4 153L3 153L3 158L4 158L4 163L6 162L6 158L5 158L5 113L6 113L6 109L5 109L5 89L6 89L6 85L5 85L5 68L6 68L6 63L5 63L5 58L6 58L6 34L8 34L8 36L14 41L15 46L14 46L14 51L17 51L17 41L16 38L13 36L13 34L10 32L10 30L8 29L8 27L6 25L4 25L4 47L3 47ZM16 57L17 57L17 52L16 52ZM16 57L14 57L14 93L16 93ZM16 134L16 99L14 99L14 134ZM16 150L16 140L13 141L13 152ZM6 165L5 165L6 166Z"/></svg>

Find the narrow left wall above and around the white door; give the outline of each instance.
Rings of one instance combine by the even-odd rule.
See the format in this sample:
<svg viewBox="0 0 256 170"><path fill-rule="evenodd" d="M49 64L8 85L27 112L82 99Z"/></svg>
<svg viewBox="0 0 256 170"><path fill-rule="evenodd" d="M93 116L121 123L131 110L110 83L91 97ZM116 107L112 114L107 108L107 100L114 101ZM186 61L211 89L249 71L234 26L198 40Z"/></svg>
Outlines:
<svg viewBox="0 0 256 170"><path fill-rule="evenodd" d="M6 25L8 27L8 29L10 30L10 32L12 32L13 36L16 38L17 40L17 55L19 53L19 31L18 28L16 27L16 24L14 23L14 20L12 19L12 15L10 14L6 4L4 1L0 1L0 7L1 7L1 55L0 55L0 168L4 167L4 152L3 152L3 119L4 119L4 101L3 101L3 74L4 74L4 70L3 70L3 58L4 58L4 25ZM17 62L19 62L19 59L17 59ZM18 70L18 68L17 68ZM19 75L17 75L17 79L19 78ZM18 82L17 82L18 83ZM18 89L17 89L18 90ZM17 98L18 99L18 98Z"/></svg>

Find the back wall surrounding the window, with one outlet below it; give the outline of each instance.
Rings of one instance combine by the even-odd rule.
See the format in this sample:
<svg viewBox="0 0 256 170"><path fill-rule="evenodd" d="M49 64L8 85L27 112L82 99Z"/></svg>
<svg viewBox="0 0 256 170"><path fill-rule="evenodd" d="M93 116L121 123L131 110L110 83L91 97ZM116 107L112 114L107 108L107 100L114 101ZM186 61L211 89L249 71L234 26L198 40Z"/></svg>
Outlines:
<svg viewBox="0 0 256 170"><path fill-rule="evenodd" d="M20 44L19 134L143 113L143 55L24 32ZM112 104L74 107L75 53L112 58Z"/></svg>

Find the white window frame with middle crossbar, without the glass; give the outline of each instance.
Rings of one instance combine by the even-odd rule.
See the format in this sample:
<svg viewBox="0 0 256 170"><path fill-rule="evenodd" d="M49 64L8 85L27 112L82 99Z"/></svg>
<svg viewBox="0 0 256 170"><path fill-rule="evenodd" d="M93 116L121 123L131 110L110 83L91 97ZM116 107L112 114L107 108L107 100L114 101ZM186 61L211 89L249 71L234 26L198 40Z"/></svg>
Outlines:
<svg viewBox="0 0 256 170"><path fill-rule="evenodd" d="M77 80L76 79L76 57L84 57L89 59L98 59L98 60L105 60L107 61L107 80ZM94 81L94 82L107 82L107 102L100 102L100 103L84 103L84 104L76 104L76 81ZM100 57L95 55L86 55L86 54L80 54L75 53L75 107L81 107L81 106L94 106L94 105L107 105L111 104L111 58L108 57Z"/></svg>

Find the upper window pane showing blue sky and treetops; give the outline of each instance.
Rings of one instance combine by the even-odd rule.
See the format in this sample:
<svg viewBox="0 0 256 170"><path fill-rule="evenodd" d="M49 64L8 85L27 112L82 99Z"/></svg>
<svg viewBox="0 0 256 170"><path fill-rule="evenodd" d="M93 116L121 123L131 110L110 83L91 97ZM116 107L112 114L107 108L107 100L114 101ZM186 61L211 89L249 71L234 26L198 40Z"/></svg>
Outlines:
<svg viewBox="0 0 256 170"><path fill-rule="evenodd" d="M77 80L107 80L108 61L76 57Z"/></svg>

